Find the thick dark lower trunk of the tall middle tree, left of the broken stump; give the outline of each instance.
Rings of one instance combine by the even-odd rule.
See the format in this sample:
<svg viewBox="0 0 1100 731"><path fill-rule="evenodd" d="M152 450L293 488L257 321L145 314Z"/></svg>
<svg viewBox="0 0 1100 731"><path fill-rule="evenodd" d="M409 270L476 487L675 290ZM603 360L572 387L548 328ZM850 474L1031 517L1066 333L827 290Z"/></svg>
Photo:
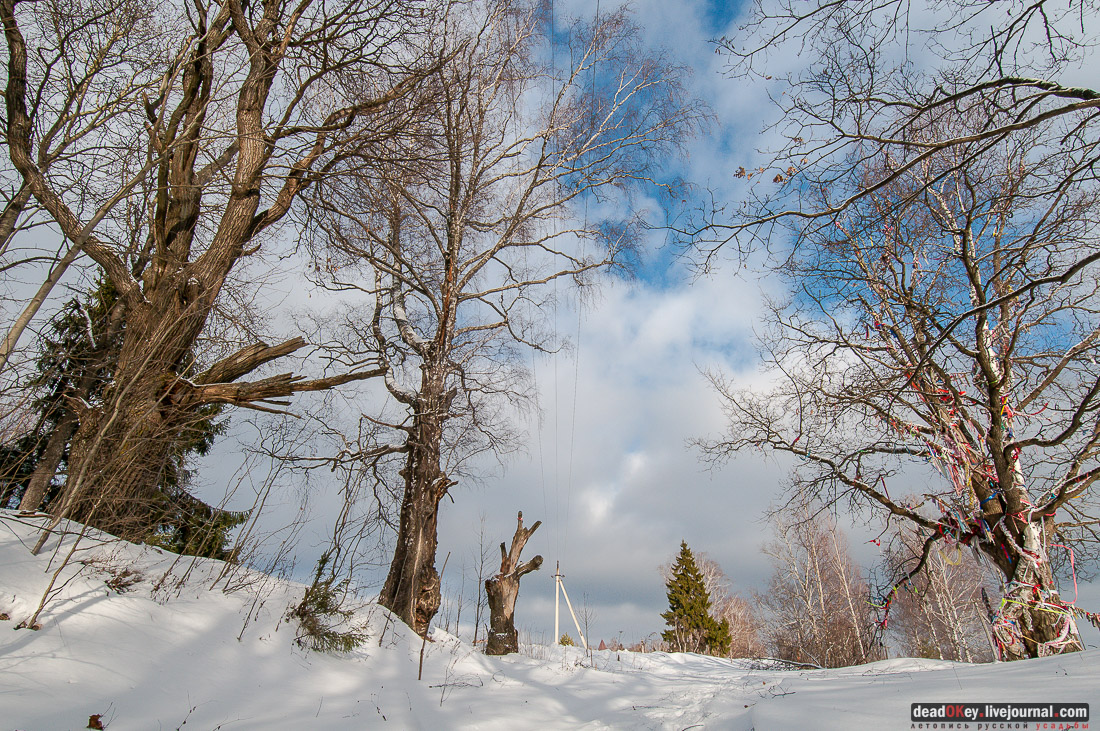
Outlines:
<svg viewBox="0 0 1100 731"><path fill-rule="evenodd" d="M397 614L417 634L426 635L441 599L436 572L439 501L455 483L442 468L443 424L454 391L444 391L442 368L424 368L420 397L416 400L408 435L408 456L402 477L402 499L397 546L378 603Z"/></svg>

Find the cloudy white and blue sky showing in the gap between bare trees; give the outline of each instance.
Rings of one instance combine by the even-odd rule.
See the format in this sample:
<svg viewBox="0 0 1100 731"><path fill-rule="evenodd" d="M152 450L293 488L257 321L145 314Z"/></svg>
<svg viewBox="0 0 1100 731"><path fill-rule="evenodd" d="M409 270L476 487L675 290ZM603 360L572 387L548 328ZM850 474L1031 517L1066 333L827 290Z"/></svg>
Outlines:
<svg viewBox="0 0 1100 731"><path fill-rule="evenodd" d="M610 4L605 0L602 9ZM725 62L710 43L736 30L738 4L632 3L649 41L694 69L695 90L715 112L716 124L690 144L684 173L726 200L739 193L732 170L751 160L771 121L765 90L725 77ZM557 3L562 15L592 10L586 1ZM528 524L542 521L525 556L539 553L546 564L524 579L517 608L517 624L536 640L549 641L553 632L558 562L574 606L588 611L593 642L660 632L667 600L658 567L671 561L681 540L717 561L735 591L762 589L770 573L760 554L770 533L765 511L779 495L787 465L755 453L711 470L689 440L716 435L723 427L703 370L721 369L740 384L760 378L754 326L761 297L774 285L732 265L696 278L663 246L660 233L651 244L635 279L605 281L580 313L563 299L558 331L572 347L532 357L539 410L519 417L527 448L503 466L485 463L484 478L454 488L454 502L442 506L437 565L451 554L444 587L458 590L464 576L468 597L481 525L494 545L510 540L517 510ZM212 462L232 459L222 451ZM315 498L307 534L324 533L331 505ZM881 520L855 520L846 528L857 557L873 564L877 549L868 541L881 531ZM316 560L306 554L319 541L304 543L301 565ZM381 582L382 574L372 578ZM1082 588L1082 596L1100 597ZM562 630L572 632L569 624L562 607Z"/></svg>

